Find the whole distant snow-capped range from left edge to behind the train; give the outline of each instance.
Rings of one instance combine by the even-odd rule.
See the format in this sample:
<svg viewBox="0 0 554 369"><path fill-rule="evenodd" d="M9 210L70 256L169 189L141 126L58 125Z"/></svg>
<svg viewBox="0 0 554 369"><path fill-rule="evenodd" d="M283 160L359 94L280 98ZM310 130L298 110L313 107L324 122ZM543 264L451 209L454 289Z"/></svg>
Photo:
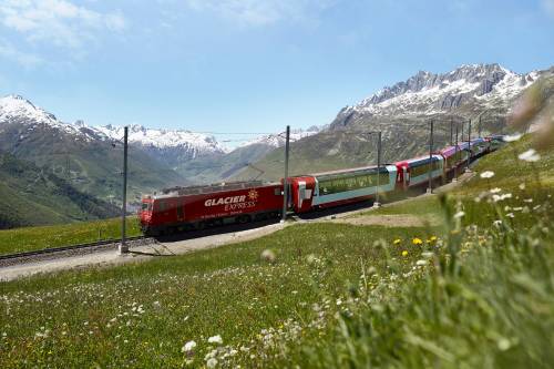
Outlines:
<svg viewBox="0 0 554 369"><path fill-rule="evenodd" d="M140 193L166 186L226 181L285 144L284 134L260 135L227 147L211 134L136 124L129 129L131 202L137 202ZM320 130L291 130L291 140ZM121 186L122 139L123 126L64 123L22 96L0 99L0 150L114 203Z"/></svg>

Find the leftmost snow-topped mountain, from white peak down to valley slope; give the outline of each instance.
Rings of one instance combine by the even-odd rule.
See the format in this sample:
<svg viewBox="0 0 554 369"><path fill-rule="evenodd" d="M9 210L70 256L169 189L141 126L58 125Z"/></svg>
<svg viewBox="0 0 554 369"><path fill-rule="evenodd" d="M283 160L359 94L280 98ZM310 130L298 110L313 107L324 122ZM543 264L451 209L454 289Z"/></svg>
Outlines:
<svg viewBox="0 0 554 369"><path fill-rule="evenodd" d="M65 178L81 192L120 203L121 143L84 124L66 124L21 96L0 99L0 150ZM140 147L129 152L130 202L142 192L186 184Z"/></svg>

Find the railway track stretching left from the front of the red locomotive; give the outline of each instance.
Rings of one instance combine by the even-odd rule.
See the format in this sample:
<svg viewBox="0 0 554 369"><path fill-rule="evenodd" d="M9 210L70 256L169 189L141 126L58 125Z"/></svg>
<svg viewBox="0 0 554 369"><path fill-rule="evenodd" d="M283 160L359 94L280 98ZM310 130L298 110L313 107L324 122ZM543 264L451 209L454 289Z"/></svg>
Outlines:
<svg viewBox="0 0 554 369"><path fill-rule="evenodd" d="M147 242L151 240L151 238L146 236L135 236L135 237L127 237L126 240L130 243L130 246L132 247L133 244L142 245L144 244L144 240ZM121 243L121 239L111 238L111 239L98 240L94 243L42 248L32 252L0 255L0 267L7 267L11 265L33 263L33 262L42 262L59 257L91 254L98 250L109 249L111 247L114 247L119 243Z"/></svg>

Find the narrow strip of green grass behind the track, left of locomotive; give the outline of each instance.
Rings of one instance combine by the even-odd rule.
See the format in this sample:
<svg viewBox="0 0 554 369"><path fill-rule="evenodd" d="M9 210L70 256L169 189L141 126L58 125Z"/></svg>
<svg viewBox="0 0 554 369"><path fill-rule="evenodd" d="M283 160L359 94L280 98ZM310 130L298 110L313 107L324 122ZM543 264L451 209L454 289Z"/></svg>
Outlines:
<svg viewBox="0 0 554 369"><path fill-rule="evenodd" d="M141 234L136 217L129 217L127 236ZM121 219L72 223L43 227L0 230L0 254L91 243L99 239L121 238Z"/></svg>

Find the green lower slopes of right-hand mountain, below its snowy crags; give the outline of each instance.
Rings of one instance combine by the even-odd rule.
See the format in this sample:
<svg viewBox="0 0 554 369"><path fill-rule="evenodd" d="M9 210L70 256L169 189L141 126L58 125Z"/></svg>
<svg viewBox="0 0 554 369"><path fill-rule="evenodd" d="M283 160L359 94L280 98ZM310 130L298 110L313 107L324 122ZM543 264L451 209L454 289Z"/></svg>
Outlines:
<svg viewBox="0 0 554 369"><path fill-rule="evenodd" d="M554 73L545 73L534 86L530 88L541 95L544 102L554 95ZM537 91L541 90L541 91ZM481 115L481 120L478 116ZM429 153L430 122L434 122L434 147L450 145L451 122L453 131L459 129L459 141L468 140L468 122L472 119L471 137L479 133L509 133L506 109L476 110L462 105L448 114L412 117L363 115L358 120L336 121L329 131L293 142L290 144L290 175L317 173L345 167L377 164L377 135L368 132L382 132L382 163L393 163L407 157ZM481 122L481 123L480 123ZM463 126L463 127L462 127ZM463 135L462 135L463 133ZM455 136L455 133L453 134ZM276 148L261 160L256 167L265 171L264 178L279 180L284 176L284 148ZM245 168L235 178L252 177L258 171Z"/></svg>

